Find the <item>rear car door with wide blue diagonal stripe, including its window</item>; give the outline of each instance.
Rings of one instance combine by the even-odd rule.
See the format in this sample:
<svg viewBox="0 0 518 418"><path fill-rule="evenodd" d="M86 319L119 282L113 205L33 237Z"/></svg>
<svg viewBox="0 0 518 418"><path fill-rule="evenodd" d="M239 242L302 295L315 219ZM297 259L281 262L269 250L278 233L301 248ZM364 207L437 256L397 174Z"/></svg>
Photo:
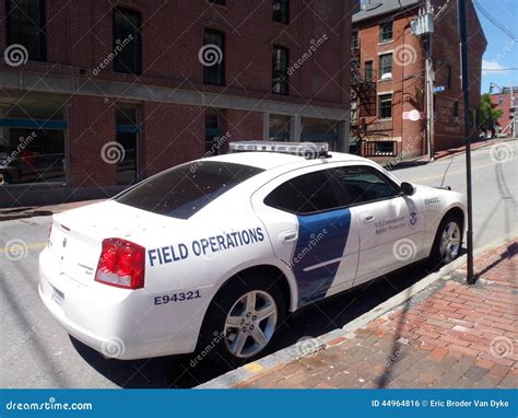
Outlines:
<svg viewBox="0 0 518 418"><path fill-rule="evenodd" d="M275 255L290 265L298 305L350 288L358 257L358 229L340 207L328 170L297 170L252 197Z"/></svg>

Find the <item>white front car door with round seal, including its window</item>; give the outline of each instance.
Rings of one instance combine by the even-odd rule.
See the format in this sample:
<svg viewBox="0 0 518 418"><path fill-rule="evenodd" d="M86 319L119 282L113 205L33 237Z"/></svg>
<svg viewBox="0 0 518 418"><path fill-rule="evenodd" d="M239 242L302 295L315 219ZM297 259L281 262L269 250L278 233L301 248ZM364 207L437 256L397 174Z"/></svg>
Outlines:
<svg viewBox="0 0 518 418"><path fill-rule="evenodd" d="M417 259L424 220L414 200L381 171L349 165L330 171L339 185L341 205L360 229L360 258L354 286Z"/></svg>

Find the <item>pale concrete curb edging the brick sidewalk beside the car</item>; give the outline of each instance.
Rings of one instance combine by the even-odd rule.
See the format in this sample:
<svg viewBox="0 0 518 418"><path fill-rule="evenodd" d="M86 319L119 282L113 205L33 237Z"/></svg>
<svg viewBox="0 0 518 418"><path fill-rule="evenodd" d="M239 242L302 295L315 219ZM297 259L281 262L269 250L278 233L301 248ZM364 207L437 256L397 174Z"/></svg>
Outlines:
<svg viewBox="0 0 518 418"><path fill-rule="evenodd" d="M475 256L508 242L511 236L513 235L506 237L505 240L498 240L483 246L476 251ZM431 287L433 285L437 285L440 279L445 281L450 279L448 275L462 267L466 260L467 255L464 254L454 263L450 263L447 266L444 266L440 270L426 276L415 285L412 285L410 288L401 291L398 294L395 294L392 298L380 303L378 306L345 324L342 328L333 329L319 337L311 338L309 342L299 341L293 346L283 348L282 350L273 352L260 360L245 364L238 369L231 370L229 372L199 386L196 386L195 388L231 388L252 378L256 379L268 371L273 371L286 363L291 363L303 357L314 355L317 351L325 350L328 347L340 344L344 339L352 337L357 329L365 327L368 323L378 317L389 315L403 303L410 299L413 299L416 294L431 289ZM304 347L302 347L303 344Z"/></svg>

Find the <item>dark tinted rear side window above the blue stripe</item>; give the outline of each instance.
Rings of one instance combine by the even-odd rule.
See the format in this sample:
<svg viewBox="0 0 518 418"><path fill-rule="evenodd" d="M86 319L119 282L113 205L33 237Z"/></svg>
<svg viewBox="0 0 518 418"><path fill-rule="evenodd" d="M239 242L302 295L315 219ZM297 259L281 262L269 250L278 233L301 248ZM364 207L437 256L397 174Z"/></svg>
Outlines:
<svg viewBox="0 0 518 418"><path fill-rule="evenodd" d="M338 208L339 201L331 186L328 171L294 177L271 191L264 204L292 213L307 214Z"/></svg>

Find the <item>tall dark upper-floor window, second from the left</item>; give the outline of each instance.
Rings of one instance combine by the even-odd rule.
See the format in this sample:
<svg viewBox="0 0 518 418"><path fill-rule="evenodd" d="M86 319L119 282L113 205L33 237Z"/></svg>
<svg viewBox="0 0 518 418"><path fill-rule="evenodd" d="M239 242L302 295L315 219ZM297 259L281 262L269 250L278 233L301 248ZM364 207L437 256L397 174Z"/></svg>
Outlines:
<svg viewBox="0 0 518 418"><path fill-rule="evenodd" d="M121 34L119 27L117 25L117 18L116 14L121 13L126 15L136 16L139 24L138 28L134 30L132 33ZM134 39L131 39L131 43L134 44L132 47L137 57L133 57L133 61L131 66L128 66L128 62L123 61L125 54L128 54L128 46L125 46L120 54L117 54L114 58L114 71L126 73L126 74L141 74L142 73L142 35L141 35L141 27L142 27L142 13L138 10L129 9L129 8L114 8L113 12L113 36L114 36L114 51L116 51L119 44L117 44L117 39L122 42L123 39L128 38L129 35L132 35ZM115 53L114 53L115 54Z"/></svg>

